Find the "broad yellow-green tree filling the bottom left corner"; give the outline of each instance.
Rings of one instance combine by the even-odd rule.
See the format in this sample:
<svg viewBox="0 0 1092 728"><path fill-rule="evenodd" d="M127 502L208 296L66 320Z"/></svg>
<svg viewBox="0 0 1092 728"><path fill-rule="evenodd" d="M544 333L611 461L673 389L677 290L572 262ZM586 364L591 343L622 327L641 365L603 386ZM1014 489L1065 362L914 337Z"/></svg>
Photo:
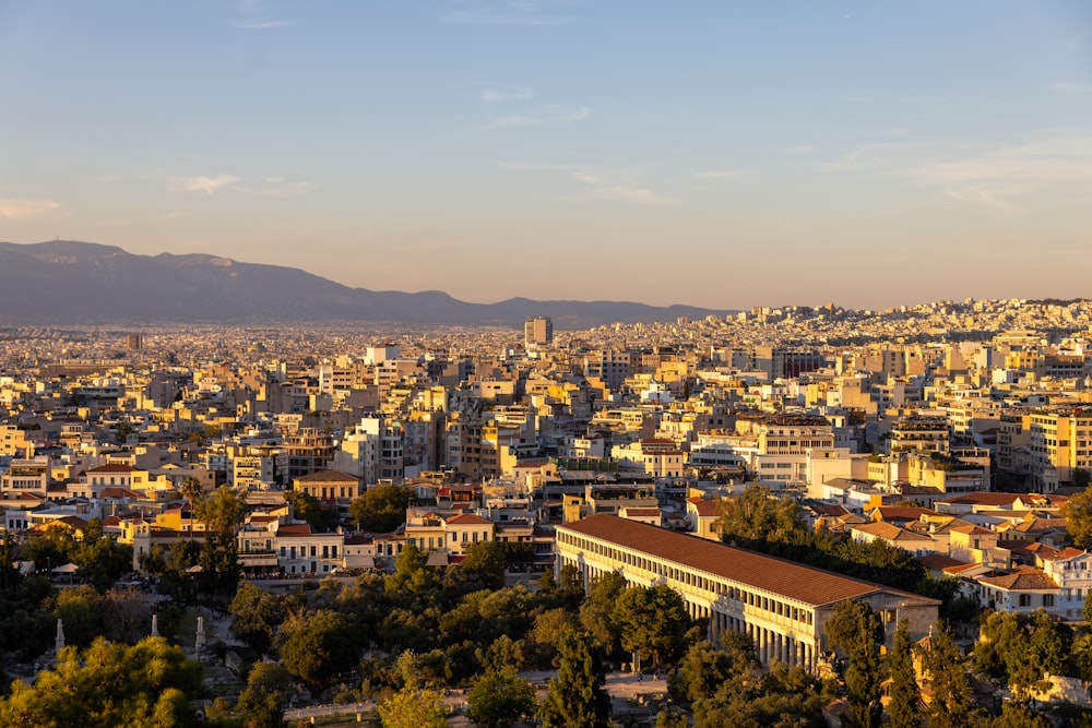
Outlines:
<svg viewBox="0 0 1092 728"><path fill-rule="evenodd" d="M201 690L201 665L162 637L135 645L98 639L80 653L66 647L33 684L16 680L0 701L0 725L197 726L190 700Z"/></svg>

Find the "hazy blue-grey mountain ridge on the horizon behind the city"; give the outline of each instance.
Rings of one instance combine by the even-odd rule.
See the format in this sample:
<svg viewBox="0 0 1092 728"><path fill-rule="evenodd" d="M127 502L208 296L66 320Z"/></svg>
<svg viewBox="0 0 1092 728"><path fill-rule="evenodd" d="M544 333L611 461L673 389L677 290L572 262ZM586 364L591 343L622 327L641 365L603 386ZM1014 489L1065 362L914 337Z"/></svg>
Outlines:
<svg viewBox="0 0 1092 728"><path fill-rule="evenodd" d="M299 268L215 255L134 255L121 248L52 240L0 242L0 321L361 321L519 326L548 315L559 329L725 315L690 306L629 301L467 303L438 291L349 288Z"/></svg>

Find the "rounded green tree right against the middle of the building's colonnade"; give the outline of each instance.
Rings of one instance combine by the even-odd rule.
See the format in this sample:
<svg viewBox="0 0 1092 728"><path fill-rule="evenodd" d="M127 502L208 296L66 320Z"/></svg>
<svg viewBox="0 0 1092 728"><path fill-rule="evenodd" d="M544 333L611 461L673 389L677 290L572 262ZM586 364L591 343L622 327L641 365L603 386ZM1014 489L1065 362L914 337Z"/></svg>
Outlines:
<svg viewBox="0 0 1092 728"><path fill-rule="evenodd" d="M621 628L622 649L655 665L682 652L691 624L682 597L666 584L626 589L615 602L614 619Z"/></svg>

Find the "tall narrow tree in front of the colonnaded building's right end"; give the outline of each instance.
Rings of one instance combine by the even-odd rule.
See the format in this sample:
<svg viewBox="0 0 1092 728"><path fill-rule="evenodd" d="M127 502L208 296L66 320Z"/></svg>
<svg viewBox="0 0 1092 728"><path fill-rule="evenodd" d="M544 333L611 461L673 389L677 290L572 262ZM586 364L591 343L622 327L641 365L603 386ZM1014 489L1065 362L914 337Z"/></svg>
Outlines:
<svg viewBox="0 0 1092 728"><path fill-rule="evenodd" d="M880 703L883 625L879 616L864 601L842 601L827 622L827 636L831 646L842 649L847 657L844 679L853 725L878 728L883 715Z"/></svg>

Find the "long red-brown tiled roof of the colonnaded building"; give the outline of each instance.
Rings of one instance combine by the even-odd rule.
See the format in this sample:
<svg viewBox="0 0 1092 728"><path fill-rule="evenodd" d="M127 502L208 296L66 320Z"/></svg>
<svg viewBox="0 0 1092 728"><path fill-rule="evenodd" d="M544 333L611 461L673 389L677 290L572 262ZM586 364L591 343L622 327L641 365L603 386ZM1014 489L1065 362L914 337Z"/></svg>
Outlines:
<svg viewBox="0 0 1092 728"><path fill-rule="evenodd" d="M915 599L939 604L935 599L925 599L879 584L850 578L785 559L650 526L638 521L627 521L605 513L557 528L617 544L664 561L675 562L714 576L780 594L788 599L796 599L816 607L880 592L902 594Z"/></svg>

